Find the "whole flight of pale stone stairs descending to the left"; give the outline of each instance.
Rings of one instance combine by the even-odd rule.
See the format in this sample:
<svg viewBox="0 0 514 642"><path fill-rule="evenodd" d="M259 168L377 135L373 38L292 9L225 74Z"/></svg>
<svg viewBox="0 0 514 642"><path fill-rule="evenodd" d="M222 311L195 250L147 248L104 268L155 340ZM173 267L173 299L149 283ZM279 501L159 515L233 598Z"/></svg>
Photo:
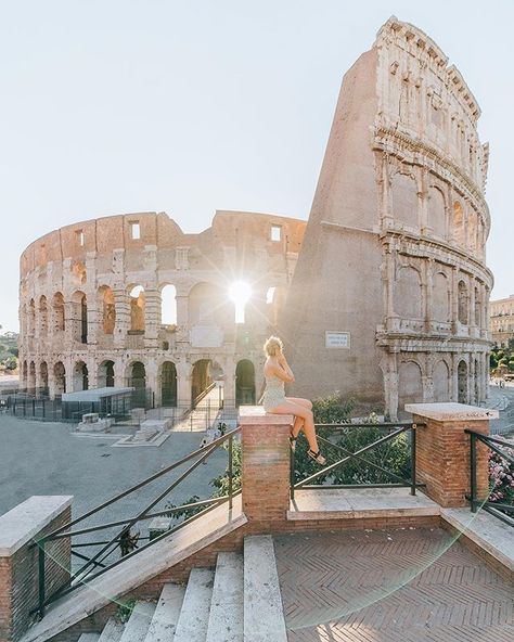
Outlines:
<svg viewBox="0 0 514 642"><path fill-rule="evenodd" d="M78 642L286 642L271 536L218 553L216 569L193 568L188 586L167 583L156 603L139 601L126 624L108 619Z"/></svg>

